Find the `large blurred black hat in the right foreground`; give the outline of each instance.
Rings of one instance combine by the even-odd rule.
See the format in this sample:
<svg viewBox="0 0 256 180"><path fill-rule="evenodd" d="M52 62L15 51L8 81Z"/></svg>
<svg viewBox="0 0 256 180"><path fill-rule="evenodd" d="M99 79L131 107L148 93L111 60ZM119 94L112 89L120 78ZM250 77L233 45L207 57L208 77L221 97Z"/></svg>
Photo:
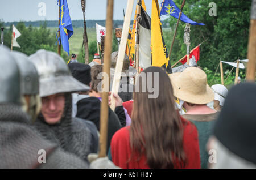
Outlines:
<svg viewBox="0 0 256 180"><path fill-rule="evenodd" d="M256 164L256 84L230 89L213 134L229 151Z"/></svg>

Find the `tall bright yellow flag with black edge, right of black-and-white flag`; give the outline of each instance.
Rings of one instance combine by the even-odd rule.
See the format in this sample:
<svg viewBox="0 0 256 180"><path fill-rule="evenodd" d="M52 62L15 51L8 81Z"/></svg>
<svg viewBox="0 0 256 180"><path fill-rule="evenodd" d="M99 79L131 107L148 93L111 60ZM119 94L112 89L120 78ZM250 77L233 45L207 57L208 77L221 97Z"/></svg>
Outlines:
<svg viewBox="0 0 256 180"><path fill-rule="evenodd" d="M169 57L166 49L166 44L164 43L162 35L162 23L160 22L158 0L152 0L151 14L152 66L162 67L165 65L165 67L167 68L169 63Z"/></svg>

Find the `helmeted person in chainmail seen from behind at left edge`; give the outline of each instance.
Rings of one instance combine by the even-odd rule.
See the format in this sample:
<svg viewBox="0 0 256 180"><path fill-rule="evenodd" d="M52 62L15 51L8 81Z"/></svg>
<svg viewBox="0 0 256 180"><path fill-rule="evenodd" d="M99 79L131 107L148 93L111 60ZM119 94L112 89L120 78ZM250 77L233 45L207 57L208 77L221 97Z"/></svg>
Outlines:
<svg viewBox="0 0 256 180"><path fill-rule="evenodd" d="M0 168L88 168L85 161L32 128L30 117L20 106L20 72L14 59L7 48L0 49ZM29 74L31 66L27 67ZM45 161L39 157L42 151Z"/></svg>

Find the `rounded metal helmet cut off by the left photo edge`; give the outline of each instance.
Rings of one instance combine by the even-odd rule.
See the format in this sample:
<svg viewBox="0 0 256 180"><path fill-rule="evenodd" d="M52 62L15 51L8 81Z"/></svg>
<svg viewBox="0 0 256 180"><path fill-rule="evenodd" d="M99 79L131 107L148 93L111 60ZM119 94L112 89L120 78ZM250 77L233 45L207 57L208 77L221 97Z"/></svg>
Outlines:
<svg viewBox="0 0 256 180"><path fill-rule="evenodd" d="M0 48L0 103L20 103L20 74L10 50Z"/></svg>

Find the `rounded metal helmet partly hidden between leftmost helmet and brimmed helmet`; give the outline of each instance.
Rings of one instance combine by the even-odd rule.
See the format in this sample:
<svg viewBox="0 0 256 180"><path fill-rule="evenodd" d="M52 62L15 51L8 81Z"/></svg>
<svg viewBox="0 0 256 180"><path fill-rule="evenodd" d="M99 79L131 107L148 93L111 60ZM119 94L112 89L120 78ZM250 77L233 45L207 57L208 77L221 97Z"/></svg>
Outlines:
<svg viewBox="0 0 256 180"><path fill-rule="evenodd" d="M20 92L22 95L39 94L39 76L36 67L28 61L28 56L20 52L12 52L20 71Z"/></svg>

